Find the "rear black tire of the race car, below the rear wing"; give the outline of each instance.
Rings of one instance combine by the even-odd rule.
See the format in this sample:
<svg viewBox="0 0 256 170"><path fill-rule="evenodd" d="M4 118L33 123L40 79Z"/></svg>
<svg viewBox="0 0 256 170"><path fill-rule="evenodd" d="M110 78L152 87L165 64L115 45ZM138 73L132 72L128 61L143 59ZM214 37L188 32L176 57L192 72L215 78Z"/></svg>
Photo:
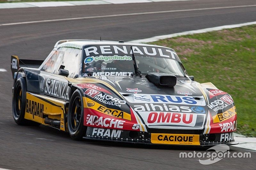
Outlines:
<svg viewBox="0 0 256 170"><path fill-rule="evenodd" d="M26 109L27 85L25 78L18 78L13 86L12 115L18 125L38 126L40 123L29 121L24 118Z"/></svg>

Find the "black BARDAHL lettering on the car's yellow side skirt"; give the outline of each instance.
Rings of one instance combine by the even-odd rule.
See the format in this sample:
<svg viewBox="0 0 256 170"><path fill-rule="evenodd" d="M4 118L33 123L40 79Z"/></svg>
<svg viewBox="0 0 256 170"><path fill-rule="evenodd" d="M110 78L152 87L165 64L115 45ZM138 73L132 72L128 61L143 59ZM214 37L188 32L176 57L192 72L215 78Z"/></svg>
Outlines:
<svg viewBox="0 0 256 170"><path fill-rule="evenodd" d="M43 118L44 105L33 100L26 99L26 112L37 117Z"/></svg>

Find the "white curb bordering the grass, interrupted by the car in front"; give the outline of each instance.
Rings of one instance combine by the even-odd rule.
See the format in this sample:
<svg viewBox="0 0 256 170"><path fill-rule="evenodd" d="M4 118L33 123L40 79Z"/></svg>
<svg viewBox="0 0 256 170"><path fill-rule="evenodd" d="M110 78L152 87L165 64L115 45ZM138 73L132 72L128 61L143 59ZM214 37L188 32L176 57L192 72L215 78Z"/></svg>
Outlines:
<svg viewBox="0 0 256 170"><path fill-rule="evenodd" d="M160 36L155 36L155 37L145 38L145 39L140 39L140 40L134 40L134 41L129 41L129 42L148 43L148 42L163 40L166 38L178 37L178 36L182 36L182 35L206 33L206 32L211 32L211 31L219 31L219 30L223 30L223 29L237 28L237 27L241 27L241 26L249 26L249 25L254 25L254 24L256 24L256 21L242 23L242 24L225 25L225 26L217 26L217 27L212 27L212 28L204 28L204 29L199 29L199 30L185 31L185 32L181 32L181 33L172 33L172 34L160 35ZM246 137L244 135L234 133L234 138L235 138L235 141L239 142L239 144L233 145L234 147L251 149L251 150L256 151L256 137Z"/></svg>

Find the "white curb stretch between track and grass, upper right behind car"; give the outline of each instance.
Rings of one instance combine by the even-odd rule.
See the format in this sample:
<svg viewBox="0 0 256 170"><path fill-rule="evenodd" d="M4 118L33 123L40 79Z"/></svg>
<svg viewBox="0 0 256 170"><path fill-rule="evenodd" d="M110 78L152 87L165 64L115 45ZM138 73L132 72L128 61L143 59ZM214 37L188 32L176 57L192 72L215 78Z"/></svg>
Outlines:
<svg viewBox="0 0 256 170"><path fill-rule="evenodd" d="M196 33L206 33L206 32L211 32L211 31L219 31L219 30L223 30L223 29L237 28L237 27L241 27L241 26L249 26L249 25L254 25L254 24L256 24L256 21L246 22L246 23L242 23L242 24L216 26L216 27L212 27L212 28L204 28L204 29L200 29L200 30L185 31L185 32L181 32L181 33L172 33L172 34L167 34L167 35L159 35L159 36L155 36L155 37L151 37L151 38L133 40L133 41L129 41L129 42L132 42L132 43L154 42L154 41L163 40L163 39L166 39L166 38L178 37L178 36L182 36L182 35L190 35L190 34L196 34Z"/></svg>

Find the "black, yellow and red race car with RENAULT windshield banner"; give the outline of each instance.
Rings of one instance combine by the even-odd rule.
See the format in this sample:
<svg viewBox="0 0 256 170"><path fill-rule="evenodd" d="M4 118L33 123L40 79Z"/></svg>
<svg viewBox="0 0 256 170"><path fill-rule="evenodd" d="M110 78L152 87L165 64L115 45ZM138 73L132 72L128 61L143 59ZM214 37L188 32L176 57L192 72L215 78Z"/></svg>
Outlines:
<svg viewBox="0 0 256 170"><path fill-rule="evenodd" d="M18 125L43 124L75 140L238 144L232 97L194 81L172 48L60 40L44 61L12 55L11 70Z"/></svg>

